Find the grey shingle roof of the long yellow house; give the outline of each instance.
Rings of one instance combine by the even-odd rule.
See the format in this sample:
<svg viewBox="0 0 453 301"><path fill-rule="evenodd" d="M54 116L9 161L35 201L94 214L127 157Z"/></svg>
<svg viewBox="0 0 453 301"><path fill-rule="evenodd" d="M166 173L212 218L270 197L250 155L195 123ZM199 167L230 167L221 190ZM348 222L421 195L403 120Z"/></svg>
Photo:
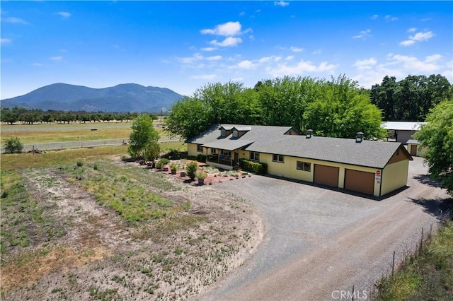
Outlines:
<svg viewBox="0 0 453 301"><path fill-rule="evenodd" d="M243 125L229 124L225 126L231 126L231 128L243 127ZM375 168L384 168L398 148L407 153L406 148L403 148L399 142L364 140L357 143L355 139L319 136L306 138L302 135L285 135L291 129L290 126L249 127L251 130L240 138L233 138L232 135L221 137L217 124L185 142L198 143L205 147L221 148L227 151L243 148L246 151L259 153L288 155ZM407 155L412 160L411 155L409 153Z"/></svg>

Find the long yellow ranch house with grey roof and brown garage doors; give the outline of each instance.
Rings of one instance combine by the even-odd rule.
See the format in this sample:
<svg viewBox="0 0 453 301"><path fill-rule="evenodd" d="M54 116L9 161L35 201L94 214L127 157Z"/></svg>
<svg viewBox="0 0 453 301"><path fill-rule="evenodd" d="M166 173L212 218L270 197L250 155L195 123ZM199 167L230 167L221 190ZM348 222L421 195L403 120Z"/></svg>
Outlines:
<svg viewBox="0 0 453 301"><path fill-rule="evenodd" d="M268 174L384 196L405 187L409 160L401 143L299 135L290 126L214 124L187 139L188 155L231 170L245 158L268 164Z"/></svg>

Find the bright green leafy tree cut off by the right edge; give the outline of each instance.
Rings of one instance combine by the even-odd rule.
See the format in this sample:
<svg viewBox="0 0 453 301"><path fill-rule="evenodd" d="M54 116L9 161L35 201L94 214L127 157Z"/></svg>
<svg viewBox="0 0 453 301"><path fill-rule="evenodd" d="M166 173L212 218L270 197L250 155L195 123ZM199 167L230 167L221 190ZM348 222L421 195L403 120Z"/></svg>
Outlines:
<svg viewBox="0 0 453 301"><path fill-rule="evenodd" d="M453 100L436 105L414 138L425 148L430 177L453 196Z"/></svg>

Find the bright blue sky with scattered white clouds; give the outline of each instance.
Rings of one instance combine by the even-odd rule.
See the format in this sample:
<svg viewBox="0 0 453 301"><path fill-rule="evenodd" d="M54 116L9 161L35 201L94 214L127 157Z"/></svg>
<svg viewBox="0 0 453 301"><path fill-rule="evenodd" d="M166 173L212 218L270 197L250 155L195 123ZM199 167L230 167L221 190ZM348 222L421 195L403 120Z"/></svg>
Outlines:
<svg viewBox="0 0 453 301"><path fill-rule="evenodd" d="M1 1L1 95L345 74L453 83L452 1Z"/></svg>

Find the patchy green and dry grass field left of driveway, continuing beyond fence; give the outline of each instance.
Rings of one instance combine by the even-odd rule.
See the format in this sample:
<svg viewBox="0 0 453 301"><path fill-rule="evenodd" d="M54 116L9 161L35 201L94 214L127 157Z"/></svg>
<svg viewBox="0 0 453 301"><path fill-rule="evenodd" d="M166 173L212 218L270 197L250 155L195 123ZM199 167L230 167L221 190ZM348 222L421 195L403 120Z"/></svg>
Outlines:
<svg viewBox="0 0 453 301"><path fill-rule="evenodd" d="M1 134L93 134L61 126ZM127 146L0 156L2 300L185 300L250 256L260 218L249 204L128 158Z"/></svg>

